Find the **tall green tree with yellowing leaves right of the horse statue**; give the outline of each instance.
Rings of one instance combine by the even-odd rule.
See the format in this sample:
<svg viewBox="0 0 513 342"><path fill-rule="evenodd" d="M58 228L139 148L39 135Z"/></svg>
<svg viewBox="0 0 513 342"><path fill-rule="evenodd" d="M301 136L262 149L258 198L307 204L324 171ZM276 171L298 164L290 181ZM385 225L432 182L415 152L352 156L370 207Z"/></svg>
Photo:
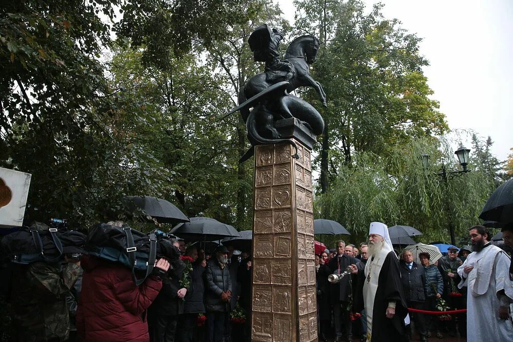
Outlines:
<svg viewBox="0 0 513 342"><path fill-rule="evenodd" d="M313 77L328 96L322 110L326 129L319 157L321 191L336 176L341 161L354 152L385 155L412 137L448 130L422 73L427 65L420 39L385 19L382 5L364 13L361 0L296 1L297 26L323 37ZM312 92L307 98L320 108Z"/></svg>

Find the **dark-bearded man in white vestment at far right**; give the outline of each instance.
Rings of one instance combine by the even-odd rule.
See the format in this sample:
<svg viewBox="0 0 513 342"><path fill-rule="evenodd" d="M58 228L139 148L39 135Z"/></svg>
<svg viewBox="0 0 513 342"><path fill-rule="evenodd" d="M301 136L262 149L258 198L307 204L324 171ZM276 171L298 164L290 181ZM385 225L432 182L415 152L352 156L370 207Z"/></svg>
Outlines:
<svg viewBox="0 0 513 342"><path fill-rule="evenodd" d="M470 228L473 252L458 268L462 280L458 287L468 288L467 341L511 341L513 324L513 282L509 279L509 256L491 245L490 232L483 226Z"/></svg>

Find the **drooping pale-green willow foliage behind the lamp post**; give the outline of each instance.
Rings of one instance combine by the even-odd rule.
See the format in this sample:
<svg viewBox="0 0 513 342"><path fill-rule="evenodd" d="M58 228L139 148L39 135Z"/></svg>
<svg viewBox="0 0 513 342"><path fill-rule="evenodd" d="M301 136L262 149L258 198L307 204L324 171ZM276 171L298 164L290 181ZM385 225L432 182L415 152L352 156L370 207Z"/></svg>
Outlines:
<svg viewBox="0 0 513 342"><path fill-rule="evenodd" d="M427 170L422 153L437 161ZM365 240L373 221L415 227L424 233L418 242L450 242L449 225L457 236L466 236L468 227L480 223L478 216L495 185L482 170L445 182L438 174L442 159L447 168L457 168L447 142L425 138L393 147L386 157L357 152L351 164L340 165L330 189L316 198L315 213L343 224L354 234L353 242ZM474 162L472 158L471 169Z"/></svg>

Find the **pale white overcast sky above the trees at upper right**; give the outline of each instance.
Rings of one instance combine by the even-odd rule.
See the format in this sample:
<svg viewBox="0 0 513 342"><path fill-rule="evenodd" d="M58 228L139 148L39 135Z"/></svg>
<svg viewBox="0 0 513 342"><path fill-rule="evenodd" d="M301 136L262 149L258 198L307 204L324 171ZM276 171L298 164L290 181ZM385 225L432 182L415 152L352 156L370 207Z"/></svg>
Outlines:
<svg viewBox="0 0 513 342"><path fill-rule="evenodd" d="M368 9L376 2L365 0ZM386 18L423 38L424 73L449 127L490 135L492 152L506 159L513 153L513 0L381 2ZM278 3L293 23L292 0Z"/></svg>

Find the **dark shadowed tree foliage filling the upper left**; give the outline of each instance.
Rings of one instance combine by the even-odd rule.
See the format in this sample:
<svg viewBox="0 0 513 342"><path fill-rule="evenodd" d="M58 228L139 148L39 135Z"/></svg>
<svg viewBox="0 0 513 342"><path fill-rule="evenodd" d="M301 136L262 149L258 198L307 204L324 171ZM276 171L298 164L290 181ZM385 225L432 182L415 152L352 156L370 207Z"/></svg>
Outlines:
<svg viewBox="0 0 513 342"><path fill-rule="evenodd" d="M102 54L112 47L115 13L121 9L124 14L115 26L120 39L145 32L144 39L133 42L151 57L158 51L146 47L162 42L150 34L150 22L173 33L166 51L180 48L186 54L194 39L213 42L220 35L209 32L224 32L240 11L239 3L229 0L187 2L187 11L184 2L162 1L154 8L149 3L155 2L0 5L0 166L32 174L27 218L61 216L88 224L103 219L109 209L119 210L124 195L164 196L172 188L173 173L165 165L173 165L157 159L159 151L139 143L145 138L130 131L137 126L152 133L156 118L145 110L151 106L134 97L131 88L109 82L110 66L102 63ZM143 12L127 14L135 8ZM167 18L176 14L176 20L160 22L163 12ZM185 12L194 18L192 26L182 25L189 23ZM154 61L161 60L157 57L162 56Z"/></svg>

